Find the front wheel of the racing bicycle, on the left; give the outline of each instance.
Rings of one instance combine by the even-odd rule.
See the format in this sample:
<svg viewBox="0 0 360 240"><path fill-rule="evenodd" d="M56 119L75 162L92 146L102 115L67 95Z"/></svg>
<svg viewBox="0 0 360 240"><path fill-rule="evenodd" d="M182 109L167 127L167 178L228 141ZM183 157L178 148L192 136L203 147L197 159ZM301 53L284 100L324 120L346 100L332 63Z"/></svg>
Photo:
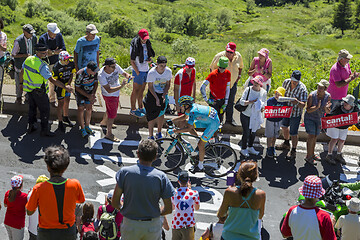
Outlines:
<svg viewBox="0 0 360 240"><path fill-rule="evenodd" d="M156 143L159 148L152 166L163 172L170 172L177 168L185 155L180 143L172 138L157 139Z"/></svg>

